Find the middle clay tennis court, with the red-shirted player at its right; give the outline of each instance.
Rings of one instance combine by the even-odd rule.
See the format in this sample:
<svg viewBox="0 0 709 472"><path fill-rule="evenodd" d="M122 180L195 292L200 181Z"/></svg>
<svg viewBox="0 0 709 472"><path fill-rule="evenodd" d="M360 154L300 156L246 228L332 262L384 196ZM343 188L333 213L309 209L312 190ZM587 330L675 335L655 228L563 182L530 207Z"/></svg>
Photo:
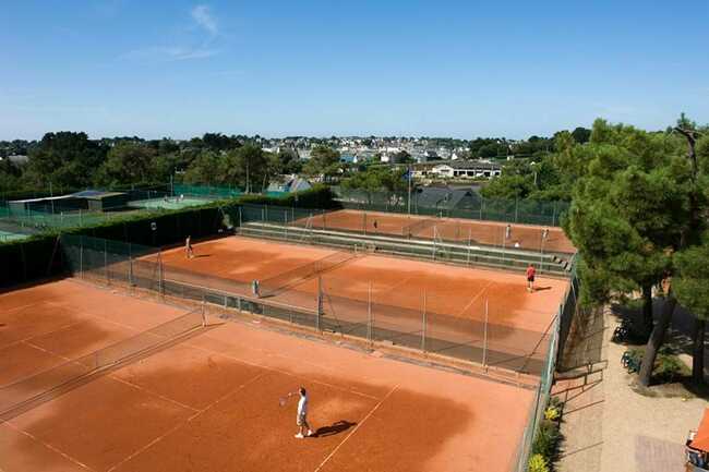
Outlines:
<svg viewBox="0 0 709 472"><path fill-rule="evenodd" d="M425 329L433 340L432 350L442 354L472 355L479 361L474 356L482 356L478 351L486 342L486 350L496 355L491 364L531 373L544 358L545 332L568 287L565 279L539 277L538 290L529 293L519 274L370 253L340 257L343 252L329 249L243 237L195 244L194 251L192 259L183 249L161 254L166 280L243 295L251 294L253 280L260 280L265 293L273 289L273 294L263 298L266 302L310 312L316 310L320 290L322 311L338 331L349 325L361 328L371 316L383 329L409 341L414 338L416 342ZM332 257L337 263L333 267L299 277L299 268ZM283 283L286 287L279 289ZM424 313L426 326L422 328ZM436 349L437 340L446 342Z"/></svg>

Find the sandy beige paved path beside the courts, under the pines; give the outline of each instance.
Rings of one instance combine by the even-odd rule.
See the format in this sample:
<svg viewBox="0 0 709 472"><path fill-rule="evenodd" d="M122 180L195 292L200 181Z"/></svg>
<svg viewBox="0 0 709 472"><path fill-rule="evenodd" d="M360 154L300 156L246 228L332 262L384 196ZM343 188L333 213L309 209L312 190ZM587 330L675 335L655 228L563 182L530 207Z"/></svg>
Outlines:
<svg viewBox="0 0 709 472"><path fill-rule="evenodd" d="M617 324L606 311L602 349L606 367L555 387L562 399L567 397L562 427L566 439L557 470L682 472L687 432L697 427L709 404L683 395L680 387L639 392L636 377L620 363L627 347L610 341Z"/></svg>

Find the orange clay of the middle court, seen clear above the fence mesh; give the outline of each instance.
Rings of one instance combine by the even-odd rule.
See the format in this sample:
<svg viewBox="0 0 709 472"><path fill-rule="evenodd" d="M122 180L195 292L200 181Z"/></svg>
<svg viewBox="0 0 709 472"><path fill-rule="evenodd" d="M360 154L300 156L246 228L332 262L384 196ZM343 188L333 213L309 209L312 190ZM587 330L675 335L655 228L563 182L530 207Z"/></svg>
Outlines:
<svg viewBox="0 0 709 472"><path fill-rule="evenodd" d="M223 288L248 294L254 279L267 285L271 277L337 251L230 237L196 244L194 252L193 259L188 259L182 249L163 253L166 278L189 281L182 271L171 273L171 268L184 269L233 280L236 283ZM372 302L383 312L420 314L425 292L428 313L482 320L486 301L490 323L538 332L546 330L568 287L567 280L538 277L538 290L528 293L522 274L363 254L324 273L321 279L326 294L361 302L368 301L371 285ZM274 299L314 308L316 293L317 278L311 278L289 286Z"/></svg>

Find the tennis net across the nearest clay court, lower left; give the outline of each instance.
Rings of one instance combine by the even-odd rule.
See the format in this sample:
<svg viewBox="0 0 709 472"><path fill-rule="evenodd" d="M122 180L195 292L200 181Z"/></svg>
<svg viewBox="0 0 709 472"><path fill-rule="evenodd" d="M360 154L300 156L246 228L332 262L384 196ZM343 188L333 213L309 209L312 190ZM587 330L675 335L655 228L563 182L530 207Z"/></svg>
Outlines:
<svg viewBox="0 0 709 472"><path fill-rule="evenodd" d="M200 307L91 354L0 387L0 420L11 420L83 385L99 372L154 352L204 326L204 312Z"/></svg>

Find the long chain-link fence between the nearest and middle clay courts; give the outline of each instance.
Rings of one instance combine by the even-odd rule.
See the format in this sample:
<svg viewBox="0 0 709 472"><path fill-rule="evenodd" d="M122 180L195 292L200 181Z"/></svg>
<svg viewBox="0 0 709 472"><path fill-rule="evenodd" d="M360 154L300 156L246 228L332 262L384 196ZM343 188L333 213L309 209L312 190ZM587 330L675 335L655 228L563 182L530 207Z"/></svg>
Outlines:
<svg viewBox="0 0 709 472"><path fill-rule="evenodd" d="M255 288L251 280L226 279L164 264L160 253L146 246L81 235L63 235L61 242L76 277L163 296L206 301L490 367L536 375L546 368L552 332L495 323L506 313L484 295L471 296L460 308L434 290L398 294L388 286L358 280L361 290L352 292L354 282L332 276L331 265L315 273L308 265L289 271L279 281L276 277ZM338 254L343 256L333 264L351 257L350 253Z"/></svg>

